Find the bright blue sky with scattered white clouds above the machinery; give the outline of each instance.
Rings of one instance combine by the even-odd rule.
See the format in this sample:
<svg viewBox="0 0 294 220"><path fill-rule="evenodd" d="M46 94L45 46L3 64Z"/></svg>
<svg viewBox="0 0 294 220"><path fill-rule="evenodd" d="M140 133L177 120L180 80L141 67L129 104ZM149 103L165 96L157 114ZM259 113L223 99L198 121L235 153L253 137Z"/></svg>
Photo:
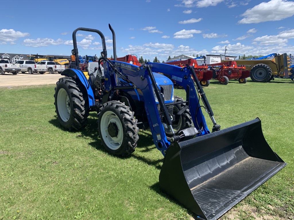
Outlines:
<svg viewBox="0 0 294 220"><path fill-rule="evenodd" d="M110 57L110 23L118 57L294 54L294 1L18 1L1 2L1 53L71 55L84 27L104 34ZM77 34L79 55L100 55L98 34Z"/></svg>

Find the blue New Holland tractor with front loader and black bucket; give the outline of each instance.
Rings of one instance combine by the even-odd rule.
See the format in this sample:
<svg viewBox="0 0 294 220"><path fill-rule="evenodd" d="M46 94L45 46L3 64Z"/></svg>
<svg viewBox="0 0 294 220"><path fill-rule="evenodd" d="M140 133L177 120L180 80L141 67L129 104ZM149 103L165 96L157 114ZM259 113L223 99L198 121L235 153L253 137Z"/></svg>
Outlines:
<svg viewBox="0 0 294 220"><path fill-rule="evenodd" d="M115 33L109 28L116 57ZM101 58L91 67L89 79L79 69L77 31L95 32L102 39ZM96 111L102 145L120 157L135 150L139 129L150 129L164 156L161 189L197 219L218 219L285 167L265 141L258 118L220 130L191 66L111 61L104 35L96 29L77 28L73 42L71 58L76 68L61 73L65 77L56 83L54 95L61 125L81 129L89 112ZM173 82L158 73L176 78L186 91L186 100L174 96ZM212 133L201 107L213 123Z"/></svg>

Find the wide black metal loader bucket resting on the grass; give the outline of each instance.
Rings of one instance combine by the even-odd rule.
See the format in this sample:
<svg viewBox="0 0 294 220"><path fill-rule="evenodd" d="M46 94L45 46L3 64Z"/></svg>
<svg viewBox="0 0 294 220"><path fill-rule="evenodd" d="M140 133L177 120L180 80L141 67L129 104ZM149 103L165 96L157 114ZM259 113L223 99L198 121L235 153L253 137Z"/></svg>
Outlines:
<svg viewBox="0 0 294 220"><path fill-rule="evenodd" d="M285 165L266 142L257 118L173 143L159 185L199 219L215 220Z"/></svg>

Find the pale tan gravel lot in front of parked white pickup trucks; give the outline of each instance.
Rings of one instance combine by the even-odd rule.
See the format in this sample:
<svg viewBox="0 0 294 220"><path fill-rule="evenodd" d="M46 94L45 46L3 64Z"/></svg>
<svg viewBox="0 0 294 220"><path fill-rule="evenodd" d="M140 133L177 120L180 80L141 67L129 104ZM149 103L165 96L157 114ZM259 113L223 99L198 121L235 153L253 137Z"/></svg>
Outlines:
<svg viewBox="0 0 294 220"><path fill-rule="evenodd" d="M0 75L0 87L56 84L61 77L63 76L60 74L18 73L12 75L6 72L5 75Z"/></svg>

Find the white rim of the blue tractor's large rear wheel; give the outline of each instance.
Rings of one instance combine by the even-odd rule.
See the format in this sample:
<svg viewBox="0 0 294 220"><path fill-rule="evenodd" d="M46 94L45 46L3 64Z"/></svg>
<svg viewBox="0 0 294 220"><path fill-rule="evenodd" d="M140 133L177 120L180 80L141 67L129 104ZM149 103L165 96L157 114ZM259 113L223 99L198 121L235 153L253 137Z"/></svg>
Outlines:
<svg viewBox="0 0 294 220"><path fill-rule="evenodd" d="M57 94L57 108L62 121L68 121L69 117L71 116L71 105L69 101L69 95L63 88L59 89Z"/></svg>

